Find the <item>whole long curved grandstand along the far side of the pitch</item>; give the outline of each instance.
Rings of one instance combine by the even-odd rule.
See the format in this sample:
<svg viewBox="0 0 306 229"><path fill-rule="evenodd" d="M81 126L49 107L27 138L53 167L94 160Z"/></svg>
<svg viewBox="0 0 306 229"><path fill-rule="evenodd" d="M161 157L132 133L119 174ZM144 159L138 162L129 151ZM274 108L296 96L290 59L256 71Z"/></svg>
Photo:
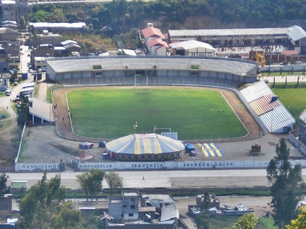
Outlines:
<svg viewBox="0 0 306 229"><path fill-rule="evenodd" d="M109 84L122 83L126 78L138 76L148 77L148 80L154 77L177 77L181 80L185 77L247 83L257 81L257 73L257 62L217 57L78 56L47 60L47 77L57 81L90 78Z"/></svg>

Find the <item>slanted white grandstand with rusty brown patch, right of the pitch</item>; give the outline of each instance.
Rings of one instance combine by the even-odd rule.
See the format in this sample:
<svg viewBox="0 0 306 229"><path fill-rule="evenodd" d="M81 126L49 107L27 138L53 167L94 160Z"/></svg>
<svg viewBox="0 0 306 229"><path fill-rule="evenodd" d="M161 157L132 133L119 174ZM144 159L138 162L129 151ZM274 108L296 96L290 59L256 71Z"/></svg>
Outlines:
<svg viewBox="0 0 306 229"><path fill-rule="evenodd" d="M259 81L240 91L254 116L270 133L287 133L293 129L295 119L267 83Z"/></svg>

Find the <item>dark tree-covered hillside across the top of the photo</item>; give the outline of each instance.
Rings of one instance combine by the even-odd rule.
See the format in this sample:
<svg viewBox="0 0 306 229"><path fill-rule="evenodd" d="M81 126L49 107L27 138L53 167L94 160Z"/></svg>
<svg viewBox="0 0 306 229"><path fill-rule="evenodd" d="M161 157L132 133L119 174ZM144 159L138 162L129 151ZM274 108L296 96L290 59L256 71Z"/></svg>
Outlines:
<svg viewBox="0 0 306 229"><path fill-rule="evenodd" d="M109 25L118 34L156 22L163 32L179 28L276 27L306 25L305 0L114 0L100 5L34 6L30 20L84 21L94 31Z"/></svg>

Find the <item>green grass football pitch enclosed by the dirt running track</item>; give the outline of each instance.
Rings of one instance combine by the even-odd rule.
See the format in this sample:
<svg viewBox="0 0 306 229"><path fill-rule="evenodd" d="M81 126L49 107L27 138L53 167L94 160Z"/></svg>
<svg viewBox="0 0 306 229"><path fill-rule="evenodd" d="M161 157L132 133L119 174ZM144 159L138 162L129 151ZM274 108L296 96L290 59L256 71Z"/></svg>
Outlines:
<svg viewBox="0 0 306 229"><path fill-rule="evenodd" d="M180 139L215 139L247 134L221 93L187 88L92 88L67 92L72 127L81 136L114 139L151 133L154 126Z"/></svg>

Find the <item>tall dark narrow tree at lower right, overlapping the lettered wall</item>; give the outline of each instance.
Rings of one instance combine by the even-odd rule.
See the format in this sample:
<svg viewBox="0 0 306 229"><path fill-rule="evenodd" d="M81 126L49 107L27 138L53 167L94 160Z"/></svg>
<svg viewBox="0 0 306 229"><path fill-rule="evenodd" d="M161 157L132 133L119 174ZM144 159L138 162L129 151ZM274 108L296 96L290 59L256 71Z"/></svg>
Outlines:
<svg viewBox="0 0 306 229"><path fill-rule="evenodd" d="M276 156L268 164L267 178L272 184L272 216L278 228L282 229L295 215L296 206L301 200L298 190L305 186L301 177L301 165L291 166L289 162L289 148L285 138L281 138L276 145Z"/></svg>

